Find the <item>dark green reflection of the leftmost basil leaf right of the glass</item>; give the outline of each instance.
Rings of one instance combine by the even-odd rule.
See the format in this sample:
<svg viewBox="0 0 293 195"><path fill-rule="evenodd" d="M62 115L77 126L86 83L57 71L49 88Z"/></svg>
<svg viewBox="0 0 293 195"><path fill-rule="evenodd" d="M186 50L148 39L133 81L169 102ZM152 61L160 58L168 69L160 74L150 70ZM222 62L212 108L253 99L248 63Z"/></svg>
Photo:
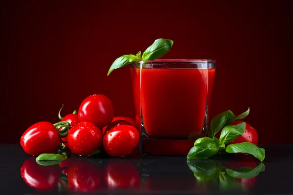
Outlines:
<svg viewBox="0 0 293 195"><path fill-rule="evenodd" d="M210 181L217 178L219 172L219 165L213 160L203 161L188 159L187 164L193 175L199 181Z"/></svg>

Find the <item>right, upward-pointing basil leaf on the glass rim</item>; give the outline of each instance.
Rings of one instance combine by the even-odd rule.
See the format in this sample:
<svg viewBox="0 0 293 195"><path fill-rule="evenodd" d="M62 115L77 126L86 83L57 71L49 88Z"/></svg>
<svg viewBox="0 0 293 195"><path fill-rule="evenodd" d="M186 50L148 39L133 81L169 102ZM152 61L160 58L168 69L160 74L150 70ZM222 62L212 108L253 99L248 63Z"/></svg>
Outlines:
<svg viewBox="0 0 293 195"><path fill-rule="evenodd" d="M173 41L169 39L156 39L143 53L143 60L158 59L171 49Z"/></svg>

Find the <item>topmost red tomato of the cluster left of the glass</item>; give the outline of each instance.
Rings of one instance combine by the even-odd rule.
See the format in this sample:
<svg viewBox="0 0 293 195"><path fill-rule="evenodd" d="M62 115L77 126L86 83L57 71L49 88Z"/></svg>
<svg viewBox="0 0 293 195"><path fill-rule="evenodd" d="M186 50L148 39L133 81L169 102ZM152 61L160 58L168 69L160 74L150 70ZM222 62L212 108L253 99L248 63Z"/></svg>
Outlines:
<svg viewBox="0 0 293 195"><path fill-rule="evenodd" d="M104 95L92 95L84 99L78 110L80 121L91 122L98 128L110 124L114 117L112 102Z"/></svg>

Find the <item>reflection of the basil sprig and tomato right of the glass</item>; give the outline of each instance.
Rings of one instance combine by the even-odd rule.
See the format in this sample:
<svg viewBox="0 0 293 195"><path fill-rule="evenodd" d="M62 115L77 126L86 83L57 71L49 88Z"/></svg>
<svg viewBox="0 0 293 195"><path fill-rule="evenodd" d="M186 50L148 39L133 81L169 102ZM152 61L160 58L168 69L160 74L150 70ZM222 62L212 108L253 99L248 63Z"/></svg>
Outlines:
<svg viewBox="0 0 293 195"><path fill-rule="evenodd" d="M221 190L249 190L259 173L265 171L263 163L256 165L250 157L227 161L188 159L187 164L197 181L219 184Z"/></svg>

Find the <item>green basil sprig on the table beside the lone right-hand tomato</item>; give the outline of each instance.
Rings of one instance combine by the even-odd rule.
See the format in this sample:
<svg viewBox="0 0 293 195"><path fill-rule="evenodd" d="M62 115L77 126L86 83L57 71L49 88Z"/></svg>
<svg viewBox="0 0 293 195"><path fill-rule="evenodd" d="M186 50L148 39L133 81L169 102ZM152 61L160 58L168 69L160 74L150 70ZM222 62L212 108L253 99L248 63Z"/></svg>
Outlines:
<svg viewBox="0 0 293 195"><path fill-rule="evenodd" d="M225 147L225 144L229 144L245 132L245 122L237 125L229 124L234 120L247 117L249 112L250 108L239 116L235 116L232 111L228 110L215 116L209 126L209 137L202 137L195 140L194 146L190 149L187 158L209 158L219 151L222 152L222 150L225 150L227 153L248 153L263 161L265 158L265 150L250 142L230 144L227 148ZM214 137L221 129L220 139Z"/></svg>

